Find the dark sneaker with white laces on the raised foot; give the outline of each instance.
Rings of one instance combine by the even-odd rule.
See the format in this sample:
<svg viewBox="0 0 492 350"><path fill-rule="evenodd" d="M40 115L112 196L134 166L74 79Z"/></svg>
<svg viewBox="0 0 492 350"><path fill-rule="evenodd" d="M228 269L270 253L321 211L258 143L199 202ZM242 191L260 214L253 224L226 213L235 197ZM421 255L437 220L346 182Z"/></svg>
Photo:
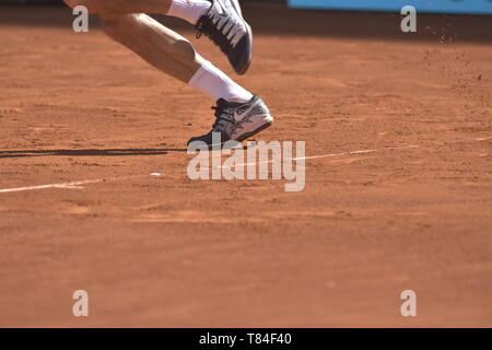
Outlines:
<svg viewBox="0 0 492 350"><path fill-rule="evenodd" d="M238 74L244 74L251 63L253 33L243 19L237 0L209 0L212 5L197 23L197 38L207 35L222 52Z"/></svg>

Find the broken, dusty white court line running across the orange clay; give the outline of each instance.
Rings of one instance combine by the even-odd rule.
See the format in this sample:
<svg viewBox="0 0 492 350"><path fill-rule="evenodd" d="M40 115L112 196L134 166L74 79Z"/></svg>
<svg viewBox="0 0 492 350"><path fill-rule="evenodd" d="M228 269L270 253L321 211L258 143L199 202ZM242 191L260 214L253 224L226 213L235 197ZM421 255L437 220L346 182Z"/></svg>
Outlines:
<svg viewBox="0 0 492 350"><path fill-rule="evenodd" d="M477 139L469 139L469 140L455 140L455 141L445 141L445 142L438 142L438 144L448 144L448 143L460 143L460 142L473 142L473 141L487 141L492 140L492 137L484 137L484 138L477 138ZM341 152L341 153L328 153L328 154L320 154L320 155L309 155L309 156L302 156L302 158L294 158L293 161L300 161L300 160L316 160L316 159L324 159L324 158L333 158L333 156L343 156L343 155L352 155L352 154L366 154L366 153L375 153L380 151L393 151L393 150L408 150L408 149L414 149L419 148L418 144L408 144L402 147L393 147L393 148L385 148L385 149L373 149L373 150L358 150L358 151L348 151L348 152ZM272 163L272 160L263 161L262 163ZM245 164L235 164L235 166L250 166L255 165L257 163L245 163ZM220 168L224 168L227 166L219 166ZM150 176L161 176L162 173L152 173ZM125 178L132 178L132 177L142 177L145 175L134 175L134 176L126 176ZM61 183L61 184L49 184L49 185L40 185L40 186L27 186L27 187L16 187L16 188L4 188L0 189L0 194L7 194L7 192L19 192L19 191L25 191L25 190L35 190L35 189L47 189L47 188L65 188L65 189L80 189L82 185L87 184L97 184L107 180L115 180L115 179L121 179L124 177L113 177L113 178L98 178L98 179L87 179L87 180L81 180L81 182L72 182L72 183Z"/></svg>

